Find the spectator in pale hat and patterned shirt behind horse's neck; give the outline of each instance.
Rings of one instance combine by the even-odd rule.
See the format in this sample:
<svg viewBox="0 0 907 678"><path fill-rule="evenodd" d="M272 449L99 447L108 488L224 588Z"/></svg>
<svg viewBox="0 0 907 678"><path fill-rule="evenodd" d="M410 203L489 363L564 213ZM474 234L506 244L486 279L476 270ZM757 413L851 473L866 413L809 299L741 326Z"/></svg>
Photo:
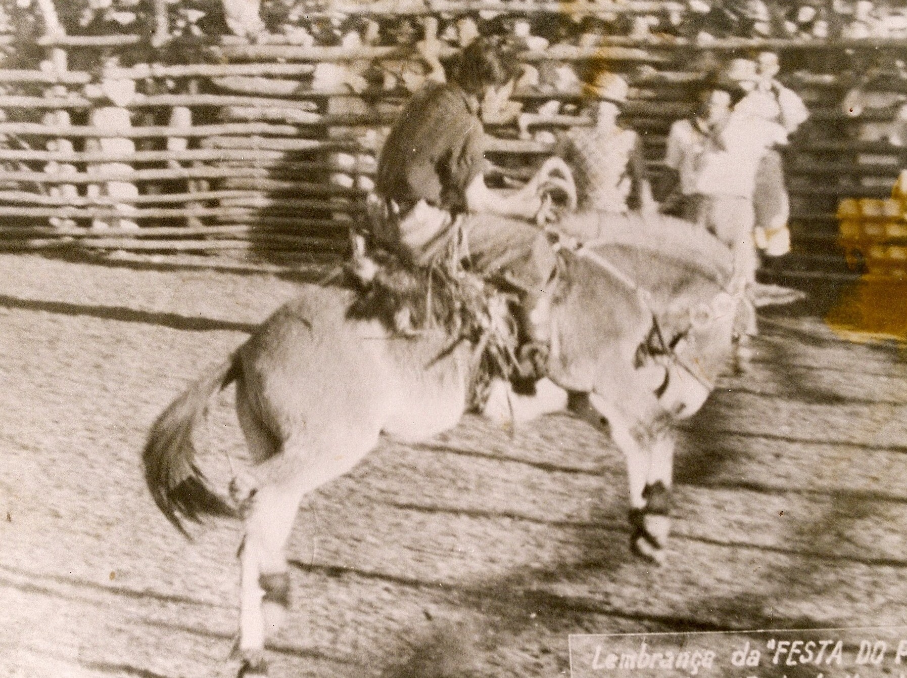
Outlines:
<svg viewBox="0 0 907 678"><path fill-rule="evenodd" d="M598 100L595 126L573 127L561 140L558 154L573 170L582 209L615 213L630 206L654 209L639 134L618 124L628 89L618 74L598 74L588 87Z"/></svg>

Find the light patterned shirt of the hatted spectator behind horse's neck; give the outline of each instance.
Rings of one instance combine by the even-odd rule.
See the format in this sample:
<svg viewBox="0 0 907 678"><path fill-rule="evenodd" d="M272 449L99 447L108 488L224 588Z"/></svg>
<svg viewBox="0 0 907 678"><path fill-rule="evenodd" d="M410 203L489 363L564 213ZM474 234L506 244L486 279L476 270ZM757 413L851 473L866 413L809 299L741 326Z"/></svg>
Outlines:
<svg viewBox="0 0 907 678"><path fill-rule="evenodd" d="M630 165L637 145L636 133L619 127L608 131L574 127L567 139L583 206L595 211L626 212L633 184Z"/></svg>

